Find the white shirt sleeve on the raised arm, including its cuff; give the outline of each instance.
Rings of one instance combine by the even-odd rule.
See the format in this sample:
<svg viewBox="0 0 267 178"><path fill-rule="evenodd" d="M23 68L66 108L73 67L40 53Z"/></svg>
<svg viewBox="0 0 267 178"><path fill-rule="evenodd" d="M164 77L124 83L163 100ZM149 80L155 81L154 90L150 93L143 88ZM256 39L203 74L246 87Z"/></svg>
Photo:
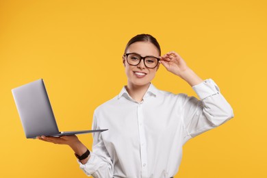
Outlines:
<svg viewBox="0 0 267 178"><path fill-rule="evenodd" d="M218 127L233 118L231 105L220 93L220 89L212 79L207 79L192 88L200 100L184 94L181 112L185 129L190 138Z"/></svg>

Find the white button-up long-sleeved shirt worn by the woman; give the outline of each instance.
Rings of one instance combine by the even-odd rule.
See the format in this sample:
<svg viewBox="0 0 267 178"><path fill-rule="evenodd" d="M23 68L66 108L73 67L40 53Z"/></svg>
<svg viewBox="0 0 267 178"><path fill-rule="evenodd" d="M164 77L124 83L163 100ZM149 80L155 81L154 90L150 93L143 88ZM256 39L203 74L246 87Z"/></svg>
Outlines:
<svg viewBox="0 0 267 178"><path fill-rule="evenodd" d="M79 162L93 177L173 177L182 146L190 138L225 123L233 110L212 79L192 87L199 96L173 94L149 86L138 103L123 88L94 111L90 159Z"/></svg>

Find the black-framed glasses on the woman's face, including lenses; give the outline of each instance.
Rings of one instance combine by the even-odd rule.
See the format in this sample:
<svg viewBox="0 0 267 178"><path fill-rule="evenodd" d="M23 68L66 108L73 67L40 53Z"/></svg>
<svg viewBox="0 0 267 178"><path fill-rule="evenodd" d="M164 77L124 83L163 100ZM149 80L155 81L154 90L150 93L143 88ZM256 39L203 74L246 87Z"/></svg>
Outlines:
<svg viewBox="0 0 267 178"><path fill-rule="evenodd" d="M125 56L127 63L131 66L137 66L138 64L140 64L141 60L144 60L144 66L146 66L147 68L155 68L160 61L160 58L156 58L151 55L142 57L137 53L126 53Z"/></svg>

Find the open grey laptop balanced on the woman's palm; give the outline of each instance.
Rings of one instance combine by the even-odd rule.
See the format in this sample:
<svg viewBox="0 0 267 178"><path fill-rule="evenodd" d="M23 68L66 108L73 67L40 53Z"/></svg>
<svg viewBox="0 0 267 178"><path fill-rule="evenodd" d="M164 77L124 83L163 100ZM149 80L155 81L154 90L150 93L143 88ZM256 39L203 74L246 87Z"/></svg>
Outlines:
<svg viewBox="0 0 267 178"><path fill-rule="evenodd" d="M55 122L55 116L43 79L38 79L29 84L14 88L12 89L12 94L26 138L36 138L37 136L59 137L107 130L60 132Z"/></svg>

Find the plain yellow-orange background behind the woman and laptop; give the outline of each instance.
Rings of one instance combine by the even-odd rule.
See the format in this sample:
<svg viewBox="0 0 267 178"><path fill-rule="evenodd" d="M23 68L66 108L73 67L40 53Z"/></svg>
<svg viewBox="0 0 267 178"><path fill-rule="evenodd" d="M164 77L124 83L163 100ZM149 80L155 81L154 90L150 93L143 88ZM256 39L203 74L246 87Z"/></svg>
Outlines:
<svg viewBox="0 0 267 178"><path fill-rule="evenodd" d="M190 140L175 177L267 177L266 1L0 1L0 177L86 177L67 146L25 138L11 89L43 78L61 131L126 84L121 57L136 34L212 78L235 118ZM163 67L153 84L194 95ZM90 134L79 136L91 148Z"/></svg>

